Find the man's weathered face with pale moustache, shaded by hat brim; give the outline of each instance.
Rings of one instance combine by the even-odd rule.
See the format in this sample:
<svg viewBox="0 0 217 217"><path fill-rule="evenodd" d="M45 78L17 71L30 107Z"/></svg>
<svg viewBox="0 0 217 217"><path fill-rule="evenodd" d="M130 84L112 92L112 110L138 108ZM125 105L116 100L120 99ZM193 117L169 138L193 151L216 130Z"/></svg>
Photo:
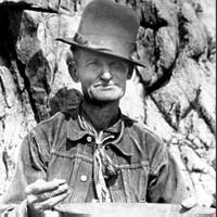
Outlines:
<svg viewBox="0 0 217 217"><path fill-rule="evenodd" d="M119 100L129 77L129 64L97 52L77 51L77 77L86 97L97 101Z"/></svg>

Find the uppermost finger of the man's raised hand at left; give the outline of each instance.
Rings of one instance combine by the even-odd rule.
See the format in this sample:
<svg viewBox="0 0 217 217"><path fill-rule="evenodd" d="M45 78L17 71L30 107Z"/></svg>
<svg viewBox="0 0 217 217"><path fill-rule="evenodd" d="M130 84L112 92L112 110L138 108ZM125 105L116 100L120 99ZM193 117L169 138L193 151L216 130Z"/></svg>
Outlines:
<svg viewBox="0 0 217 217"><path fill-rule="evenodd" d="M63 183L65 183L65 180L63 179L53 179L52 181L44 181L42 179L39 179L34 183L27 186L25 192L26 194L39 194L46 191L55 190L59 188L59 186Z"/></svg>

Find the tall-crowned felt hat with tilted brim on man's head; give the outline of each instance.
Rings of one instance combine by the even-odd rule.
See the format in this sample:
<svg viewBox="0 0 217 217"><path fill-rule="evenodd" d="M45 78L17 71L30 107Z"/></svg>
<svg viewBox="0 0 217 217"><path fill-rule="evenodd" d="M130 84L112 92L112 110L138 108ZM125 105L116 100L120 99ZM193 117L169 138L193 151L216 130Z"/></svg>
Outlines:
<svg viewBox="0 0 217 217"><path fill-rule="evenodd" d="M56 40L144 67L132 60L138 29L139 17L132 9L112 0L93 0L85 8L75 36Z"/></svg>

